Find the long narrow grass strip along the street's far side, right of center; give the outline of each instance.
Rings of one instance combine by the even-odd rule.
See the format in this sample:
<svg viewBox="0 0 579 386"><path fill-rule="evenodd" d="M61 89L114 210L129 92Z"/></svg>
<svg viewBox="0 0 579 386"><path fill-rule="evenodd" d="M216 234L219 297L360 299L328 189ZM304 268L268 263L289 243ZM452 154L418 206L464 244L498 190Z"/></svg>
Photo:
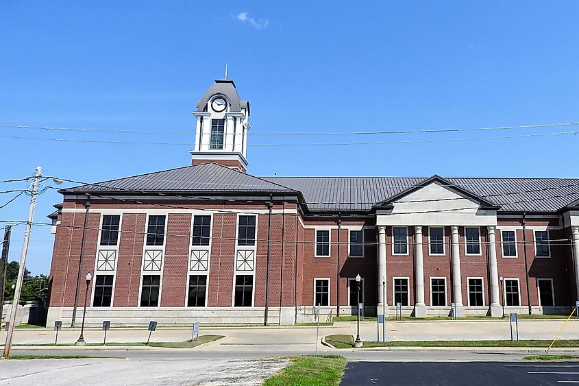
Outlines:
<svg viewBox="0 0 579 386"><path fill-rule="evenodd" d="M335 348L354 348L352 335L327 335L325 341ZM495 341L365 341L364 347L532 347L548 348L552 340ZM579 339L559 339L558 348L578 348Z"/></svg>

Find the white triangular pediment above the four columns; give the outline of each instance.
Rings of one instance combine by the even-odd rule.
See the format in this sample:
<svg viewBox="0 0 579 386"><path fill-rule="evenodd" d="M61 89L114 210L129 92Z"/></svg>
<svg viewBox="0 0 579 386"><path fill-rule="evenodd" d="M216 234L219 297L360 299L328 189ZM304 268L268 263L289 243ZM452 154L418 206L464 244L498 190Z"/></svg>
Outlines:
<svg viewBox="0 0 579 386"><path fill-rule="evenodd" d="M463 192L433 181L391 202L393 208L377 210L377 225L488 226L497 224L495 209Z"/></svg>

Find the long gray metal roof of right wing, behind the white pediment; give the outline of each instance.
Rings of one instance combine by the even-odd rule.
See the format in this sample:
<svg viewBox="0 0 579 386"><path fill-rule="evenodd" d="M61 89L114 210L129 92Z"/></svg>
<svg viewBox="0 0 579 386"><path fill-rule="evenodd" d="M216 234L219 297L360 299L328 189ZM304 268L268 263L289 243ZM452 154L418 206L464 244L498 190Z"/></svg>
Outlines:
<svg viewBox="0 0 579 386"><path fill-rule="evenodd" d="M427 178L264 177L301 191L312 211L369 211ZM579 200L579 178L446 178L499 212L556 212Z"/></svg>

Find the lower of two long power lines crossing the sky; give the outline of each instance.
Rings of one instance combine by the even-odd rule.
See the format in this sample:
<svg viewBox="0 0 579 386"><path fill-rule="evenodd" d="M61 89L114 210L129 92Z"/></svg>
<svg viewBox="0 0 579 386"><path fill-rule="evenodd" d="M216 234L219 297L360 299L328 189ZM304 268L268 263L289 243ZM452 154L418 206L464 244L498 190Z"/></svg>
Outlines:
<svg viewBox="0 0 579 386"><path fill-rule="evenodd" d="M336 143L248 143L247 146L255 147L297 147L297 146L349 146L349 145L399 145L405 143L445 143L445 142L465 142L465 141L488 141L495 139L511 139L511 138L533 138L539 136L555 136L566 134L578 134L578 132L553 132L541 134L521 134L511 136L487 136L487 137L472 137L472 138L443 138L443 139L425 139L417 141L373 141L373 142L336 142ZM72 142L72 143L115 143L121 145L164 145L164 146L191 146L193 143L173 143L173 142L137 142L137 141L106 141L96 139L73 139L73 138L42 138L34 136L8 136L0 135L1 138L12 139L29 139L34 141L53 141L53 142Z"/></svg>

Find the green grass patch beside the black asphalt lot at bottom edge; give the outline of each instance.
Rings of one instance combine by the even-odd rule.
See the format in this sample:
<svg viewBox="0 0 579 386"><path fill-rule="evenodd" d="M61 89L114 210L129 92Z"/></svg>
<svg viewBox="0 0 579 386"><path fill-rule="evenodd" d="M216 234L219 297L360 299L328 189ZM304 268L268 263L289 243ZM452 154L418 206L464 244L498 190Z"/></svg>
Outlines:
<svg viewBox="0 0 579 386"><path fill-rule="evenodd" d="M267 378L264 386L339 385L347 360L339 355L291 357L280 374Z"/></svg>

